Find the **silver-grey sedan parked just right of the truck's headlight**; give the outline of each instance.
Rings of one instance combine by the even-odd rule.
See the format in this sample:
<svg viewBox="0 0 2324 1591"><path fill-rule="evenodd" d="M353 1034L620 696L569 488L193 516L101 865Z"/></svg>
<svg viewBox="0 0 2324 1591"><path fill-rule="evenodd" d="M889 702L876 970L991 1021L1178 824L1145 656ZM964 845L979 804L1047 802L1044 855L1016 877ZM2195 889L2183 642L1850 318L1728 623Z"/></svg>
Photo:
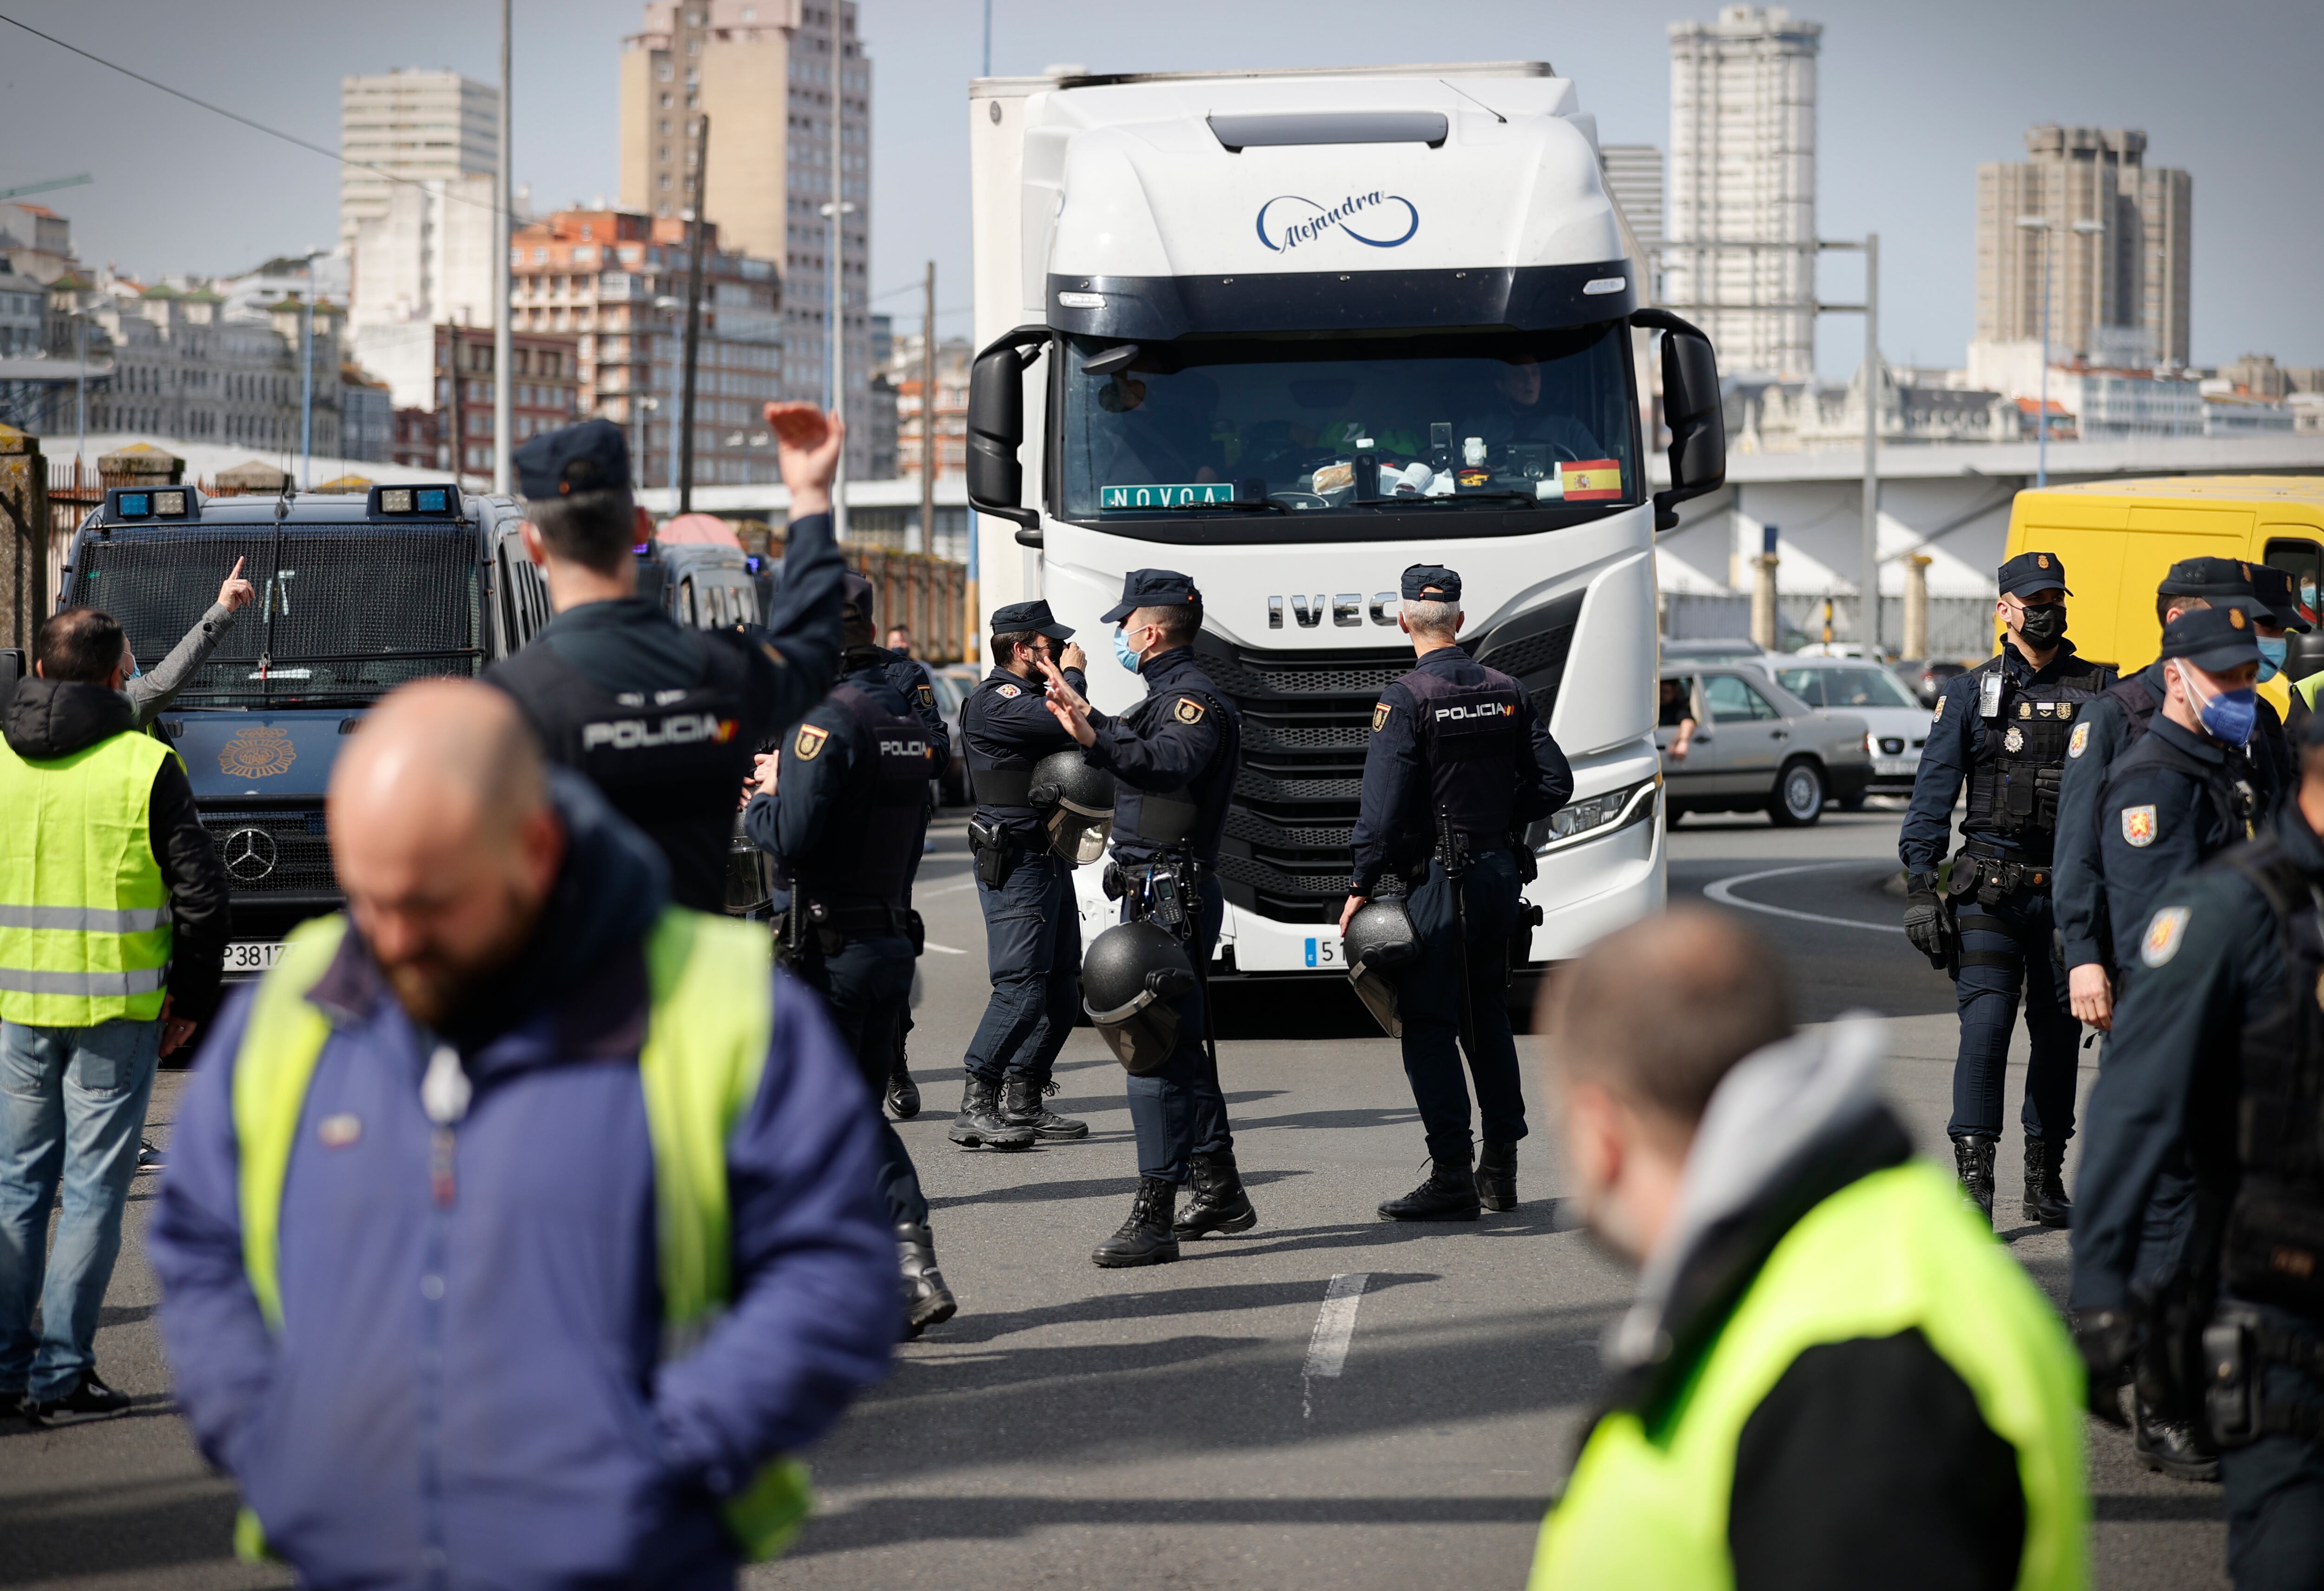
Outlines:
<svg viewBox="0 0 2324 1591"><path fill-rule="evenodd" d="M1697 725L1683 759L1671 755L1676 729L1655 732L1671 820L1764 811L1789 829L1864 799L1871 729L1855 713L1810 706L1748 662L1666 662L1662 678L1685 685Z"/></svg>

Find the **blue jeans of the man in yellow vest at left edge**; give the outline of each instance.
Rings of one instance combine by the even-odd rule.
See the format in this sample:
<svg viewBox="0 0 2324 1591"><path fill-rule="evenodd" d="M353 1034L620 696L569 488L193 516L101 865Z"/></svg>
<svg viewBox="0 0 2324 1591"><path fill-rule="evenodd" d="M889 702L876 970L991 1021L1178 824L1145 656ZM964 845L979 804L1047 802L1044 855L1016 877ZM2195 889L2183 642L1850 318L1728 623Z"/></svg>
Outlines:
<svg viewBox="0 0 2324 1591"><path fill-rule="evenodd" d="M160 1022L0 1022L0 1391L63 1398L95 1366L158 1057Z"/></svg>

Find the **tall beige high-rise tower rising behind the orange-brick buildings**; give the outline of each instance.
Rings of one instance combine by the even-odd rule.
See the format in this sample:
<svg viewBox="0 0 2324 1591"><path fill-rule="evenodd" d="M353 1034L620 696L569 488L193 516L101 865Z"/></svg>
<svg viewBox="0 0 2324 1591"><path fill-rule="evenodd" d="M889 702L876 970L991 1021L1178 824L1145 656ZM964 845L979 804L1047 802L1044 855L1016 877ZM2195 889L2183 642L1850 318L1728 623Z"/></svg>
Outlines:
<svg viewBox="0 0 2324 1591"><path fill-rule="evenodd" d="M827 402L832 123L844 151L841 228L848 413L871 379L871 63L841 0L648 0L621 56L621 207L676 218L693 193L693 116L711 118L702 211L727 249L783 272L783 397ZM837 88L837 93L834 93ZM869 430L848 439L848 471L869 469Z"/></svg>

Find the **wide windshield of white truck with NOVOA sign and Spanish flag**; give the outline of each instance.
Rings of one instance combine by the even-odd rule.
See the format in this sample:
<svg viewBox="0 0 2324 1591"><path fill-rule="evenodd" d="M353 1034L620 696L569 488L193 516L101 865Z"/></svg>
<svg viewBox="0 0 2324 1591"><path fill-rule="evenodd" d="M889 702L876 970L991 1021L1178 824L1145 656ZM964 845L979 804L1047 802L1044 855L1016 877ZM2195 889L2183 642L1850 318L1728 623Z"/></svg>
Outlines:
<svg viewBox="0 0 2324 1591"><path fill-rule="evenodd" d="M1624 506L1645 490L1618 321L1139 348L1069 337L1064 358L1076 520Z"/></svg>

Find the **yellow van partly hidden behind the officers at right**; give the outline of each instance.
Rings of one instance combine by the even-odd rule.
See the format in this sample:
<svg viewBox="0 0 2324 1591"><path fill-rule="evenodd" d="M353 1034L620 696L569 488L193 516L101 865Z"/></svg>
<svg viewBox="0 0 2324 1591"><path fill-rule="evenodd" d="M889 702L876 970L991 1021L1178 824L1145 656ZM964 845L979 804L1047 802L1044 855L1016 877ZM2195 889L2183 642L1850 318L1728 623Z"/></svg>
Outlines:
<svg viewBox="0 0 2324 1591"><path fill-rule="evenodd" d="M2324 476L2161 476L2017 492L2003 557L2017 553L2057 553L2066 562L2066 634L2082 657L2129 674L2161 648L2154 588L2182 557L2287 569L2315 611L2324 585ZM2287 671L2259 687L2278 713L2289 704L2289 678L2324 669L2324 634L2291 641Z"/></svg>

